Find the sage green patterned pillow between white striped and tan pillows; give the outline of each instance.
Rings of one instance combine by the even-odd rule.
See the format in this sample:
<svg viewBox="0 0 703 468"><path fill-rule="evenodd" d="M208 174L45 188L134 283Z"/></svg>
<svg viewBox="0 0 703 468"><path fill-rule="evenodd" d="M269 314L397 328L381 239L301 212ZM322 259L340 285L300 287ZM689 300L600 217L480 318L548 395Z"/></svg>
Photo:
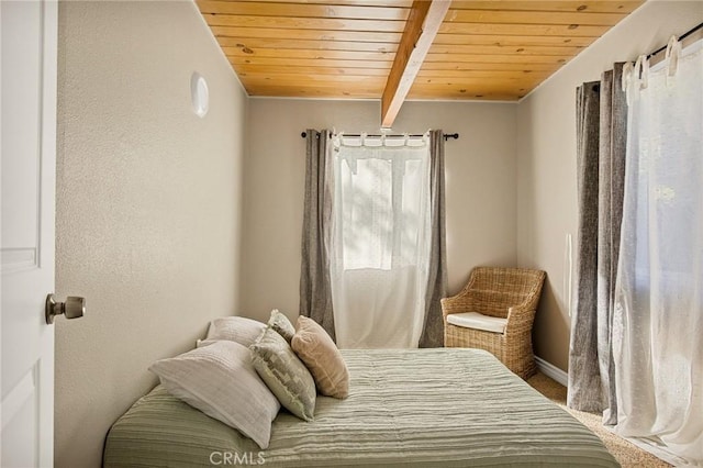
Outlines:
<svg viewBox="0 0 703 468"><path fill-rule="evenodd" d="M268 327L253 344L254 368L281 405L305 421L315 412L315 381L286 339Z"/></svg>

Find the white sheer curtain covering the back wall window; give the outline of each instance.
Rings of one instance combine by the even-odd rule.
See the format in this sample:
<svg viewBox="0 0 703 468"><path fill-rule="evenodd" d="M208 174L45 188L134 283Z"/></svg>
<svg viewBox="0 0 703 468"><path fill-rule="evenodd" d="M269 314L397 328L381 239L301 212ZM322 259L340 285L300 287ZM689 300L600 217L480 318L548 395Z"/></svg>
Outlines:
<svg viewBox="0 0 703 468"><path fill-rule="evenodd" d="M336 136L331 287L342 348L417 347L431 248L429 140Z"/></svg>

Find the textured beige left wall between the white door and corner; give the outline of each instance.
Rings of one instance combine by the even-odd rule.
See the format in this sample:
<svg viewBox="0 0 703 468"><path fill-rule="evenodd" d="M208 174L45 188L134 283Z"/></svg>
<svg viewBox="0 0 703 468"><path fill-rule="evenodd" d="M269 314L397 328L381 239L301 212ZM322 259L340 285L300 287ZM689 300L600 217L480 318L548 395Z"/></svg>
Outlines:
<svg viewBox="0 0 703 468"><path fill-rule="evenodd" d="M204 119L190 76L209 82ZM246 96L191 2L62 2L57 467L98 467L110 425L238 301Z"/></svg>

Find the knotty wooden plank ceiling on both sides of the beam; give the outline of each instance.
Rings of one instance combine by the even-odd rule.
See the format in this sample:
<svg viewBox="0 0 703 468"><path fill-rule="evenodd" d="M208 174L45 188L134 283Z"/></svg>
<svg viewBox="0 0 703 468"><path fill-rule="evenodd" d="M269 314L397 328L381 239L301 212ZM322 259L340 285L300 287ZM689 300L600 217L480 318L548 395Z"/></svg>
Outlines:
<svg viewBox="0 0 703 468"><path fill-rule="evenodd" d="M249 96L373 99L383 94L413 4L197 3ZM408 99L517 100L641 3L454 0Z"/></svg>

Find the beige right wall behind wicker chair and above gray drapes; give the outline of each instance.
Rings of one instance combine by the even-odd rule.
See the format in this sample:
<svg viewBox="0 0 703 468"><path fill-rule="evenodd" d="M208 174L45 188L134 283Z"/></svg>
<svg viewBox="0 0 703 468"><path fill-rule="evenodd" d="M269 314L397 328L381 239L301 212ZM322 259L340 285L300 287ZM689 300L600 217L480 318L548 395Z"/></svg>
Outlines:
<svg viewBox="0 0 703 468"><path fill-rule="evenodd" d="M517 258L547 271L535 349L567 368L569 315L562 287L567 233L577 233L576 88L615 62L636 59L703 21L701 1L649 1L517 107Z"/></svg>

